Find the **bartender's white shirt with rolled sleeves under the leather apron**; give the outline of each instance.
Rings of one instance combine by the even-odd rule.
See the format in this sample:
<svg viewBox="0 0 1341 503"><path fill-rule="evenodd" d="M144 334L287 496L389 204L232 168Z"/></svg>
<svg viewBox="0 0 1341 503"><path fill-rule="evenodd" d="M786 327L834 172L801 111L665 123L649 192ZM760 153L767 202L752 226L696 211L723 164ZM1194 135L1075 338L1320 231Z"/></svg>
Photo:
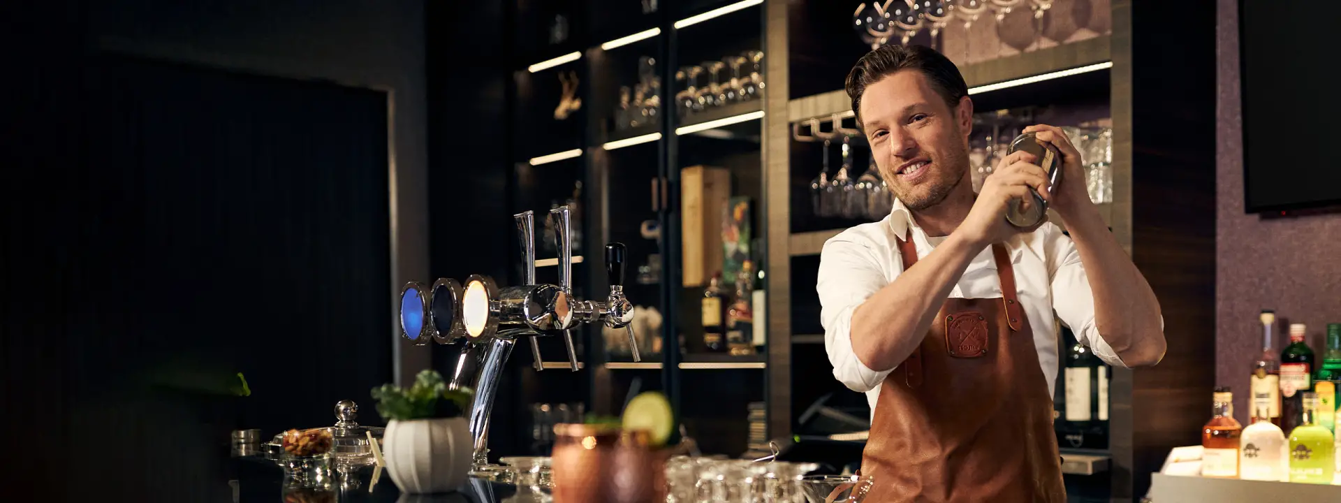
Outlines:
<svg viewBox="0 0 1341 503"><path fill-rule="evenodd" d="M901 201L881 221L861 224L829 239L819 254L821 322L825 326L825 350L834 366L834 377L854 392L865 392L872 414L880 384L894 369L870 369L852 350L852 314L872 294L894 282L904 270L897 237L912 229L917 256L931 254L941 237L928 237ZM1085 267L1071 239L1053 223L1006 241L1015 270L1019 303L1029 317L1038 349L1038 364L1047 377L1047 394L1057 380L1055 318L1062 319L1075 337L1109 365L1126 366L1094 327L1094 294ZM991 247L974 258L964 275L955 283L951 298L999 298L1000 280ZM935 378L935 376L928 376Z"/></svg>

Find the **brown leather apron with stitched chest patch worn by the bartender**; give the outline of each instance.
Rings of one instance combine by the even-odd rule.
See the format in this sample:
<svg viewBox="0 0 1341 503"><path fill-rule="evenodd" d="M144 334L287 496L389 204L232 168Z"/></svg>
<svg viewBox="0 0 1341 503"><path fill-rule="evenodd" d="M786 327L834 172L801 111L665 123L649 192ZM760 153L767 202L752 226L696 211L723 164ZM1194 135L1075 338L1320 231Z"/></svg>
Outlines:
<svg viewBox="0 0 1341 503"><path fill-rule="evenodd" d="M917 263L898 240L904 271ZM1015 272L1003 298L945 299L921 346L885 377L862 452L866 502L1065 502L1053 397Z"/></svg>

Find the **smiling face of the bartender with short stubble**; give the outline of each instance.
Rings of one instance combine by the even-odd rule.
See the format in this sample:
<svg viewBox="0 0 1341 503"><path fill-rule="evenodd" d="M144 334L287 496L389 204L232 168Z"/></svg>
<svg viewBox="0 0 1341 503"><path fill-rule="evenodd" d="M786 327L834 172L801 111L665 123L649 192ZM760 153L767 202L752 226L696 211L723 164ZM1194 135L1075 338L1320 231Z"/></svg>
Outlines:
<svg viewBox="0 0 1341 503"><path fill-rule="evenodd" d="M972 102L951 109L921 71L866 86L860 111L880 176L909 209L936 205L968 174Z"/></svg>

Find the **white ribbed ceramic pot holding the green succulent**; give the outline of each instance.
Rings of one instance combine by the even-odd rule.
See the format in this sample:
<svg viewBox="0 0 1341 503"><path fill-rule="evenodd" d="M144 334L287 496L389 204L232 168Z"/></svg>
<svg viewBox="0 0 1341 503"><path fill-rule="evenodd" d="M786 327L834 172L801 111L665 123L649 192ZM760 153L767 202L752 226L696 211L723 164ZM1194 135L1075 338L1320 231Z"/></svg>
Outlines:
<svg viewBox="0 0 1341 503"><path fill-rule="evenodd" d="M401 492L455 491L471 473L472 444L463 417L390 421L382 436L386 473Z"/></svg>

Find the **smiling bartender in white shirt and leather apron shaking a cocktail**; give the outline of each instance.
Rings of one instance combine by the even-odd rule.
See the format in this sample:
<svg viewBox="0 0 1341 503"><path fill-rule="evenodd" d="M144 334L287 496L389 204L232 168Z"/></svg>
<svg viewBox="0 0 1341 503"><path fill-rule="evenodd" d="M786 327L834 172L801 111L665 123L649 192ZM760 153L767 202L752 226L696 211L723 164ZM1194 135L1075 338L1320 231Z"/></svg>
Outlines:
<svg viewBox="0 0 1341 503"><path fill-rule="evenodd" d="M1049 186L1016 152L974 193L974 102L949 59L885 46L846 89L897 199L884 220L825 243L817 286L834 377L872 408L868 500L1065 502L1054 319L1110 365L1155 365L1165 350L1155 292L1090 203L1061 129L1025 133L1061 150L1065 182ZM1006 221L1030 192L1070 237Z"/></svg>

